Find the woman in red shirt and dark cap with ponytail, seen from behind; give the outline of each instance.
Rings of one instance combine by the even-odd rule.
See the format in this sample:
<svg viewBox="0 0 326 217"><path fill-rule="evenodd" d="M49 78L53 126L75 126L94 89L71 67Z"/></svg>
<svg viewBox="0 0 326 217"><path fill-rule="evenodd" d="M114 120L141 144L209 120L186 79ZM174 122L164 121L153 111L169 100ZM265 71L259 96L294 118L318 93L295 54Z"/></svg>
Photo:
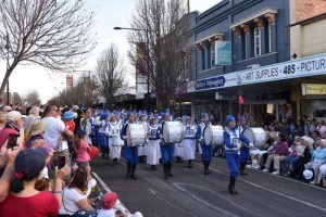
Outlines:
<svg viewBox="0 0 326 217"><path fill-rule="evenodd" d="M57 216L59 202L46 191L37 191L35 183L46 165L46 154L40 149L20 151L14 162L11 193L0 203L0 216Z"/></svg>

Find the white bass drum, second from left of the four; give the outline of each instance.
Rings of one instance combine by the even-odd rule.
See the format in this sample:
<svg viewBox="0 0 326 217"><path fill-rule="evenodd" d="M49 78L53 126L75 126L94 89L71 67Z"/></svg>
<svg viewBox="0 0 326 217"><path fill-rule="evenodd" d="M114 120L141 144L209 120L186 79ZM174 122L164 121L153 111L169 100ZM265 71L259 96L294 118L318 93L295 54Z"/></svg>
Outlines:
<svg viewBox="0 0 326 217"><path fill-rule="evenodd" d="M184 138L184 125L180 122L165 122L163 124L164 143L181 143Z"/></svg>

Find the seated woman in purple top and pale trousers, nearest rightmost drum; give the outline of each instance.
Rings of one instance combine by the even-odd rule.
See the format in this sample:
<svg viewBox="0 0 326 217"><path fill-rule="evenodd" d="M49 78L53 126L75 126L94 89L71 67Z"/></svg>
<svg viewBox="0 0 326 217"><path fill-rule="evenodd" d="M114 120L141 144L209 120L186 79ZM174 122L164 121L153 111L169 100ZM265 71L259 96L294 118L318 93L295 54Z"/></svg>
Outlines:
<svg viewBox="0 0 326 217"><path fill-rule="evenodd" d="M272 162L274 163L274 171L273 175L279 175L279 162L284 161L285 157L288 155L288 142L287 137L285 133L278 135L278 141L273 146L272 150L268 151L268 157L265 163L265 168L263 171L268 171Z"/></svg>

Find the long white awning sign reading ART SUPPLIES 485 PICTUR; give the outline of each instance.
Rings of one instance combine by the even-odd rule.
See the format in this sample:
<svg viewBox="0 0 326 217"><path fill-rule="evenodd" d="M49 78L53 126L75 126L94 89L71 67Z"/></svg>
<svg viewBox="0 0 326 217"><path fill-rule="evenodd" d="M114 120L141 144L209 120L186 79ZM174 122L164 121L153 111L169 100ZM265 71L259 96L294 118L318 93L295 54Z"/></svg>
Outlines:
<svg viewBox="0 0 326 217"><path fill-rule="evenodd" d="M249 85L326 74L326 54L238 72L237 84Z"/></svg>

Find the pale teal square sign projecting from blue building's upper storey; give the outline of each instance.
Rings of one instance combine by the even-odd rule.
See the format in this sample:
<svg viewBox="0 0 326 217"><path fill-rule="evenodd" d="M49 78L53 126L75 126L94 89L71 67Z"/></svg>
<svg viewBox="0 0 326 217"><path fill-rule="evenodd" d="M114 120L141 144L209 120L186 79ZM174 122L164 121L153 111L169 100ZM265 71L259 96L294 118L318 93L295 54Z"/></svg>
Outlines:
<svg viewBox="0 0 326 217"><path fill-rule="evenodd" d="M230 41L215 41L215 64L216 65L231 65L231 42Z"/></svg>

